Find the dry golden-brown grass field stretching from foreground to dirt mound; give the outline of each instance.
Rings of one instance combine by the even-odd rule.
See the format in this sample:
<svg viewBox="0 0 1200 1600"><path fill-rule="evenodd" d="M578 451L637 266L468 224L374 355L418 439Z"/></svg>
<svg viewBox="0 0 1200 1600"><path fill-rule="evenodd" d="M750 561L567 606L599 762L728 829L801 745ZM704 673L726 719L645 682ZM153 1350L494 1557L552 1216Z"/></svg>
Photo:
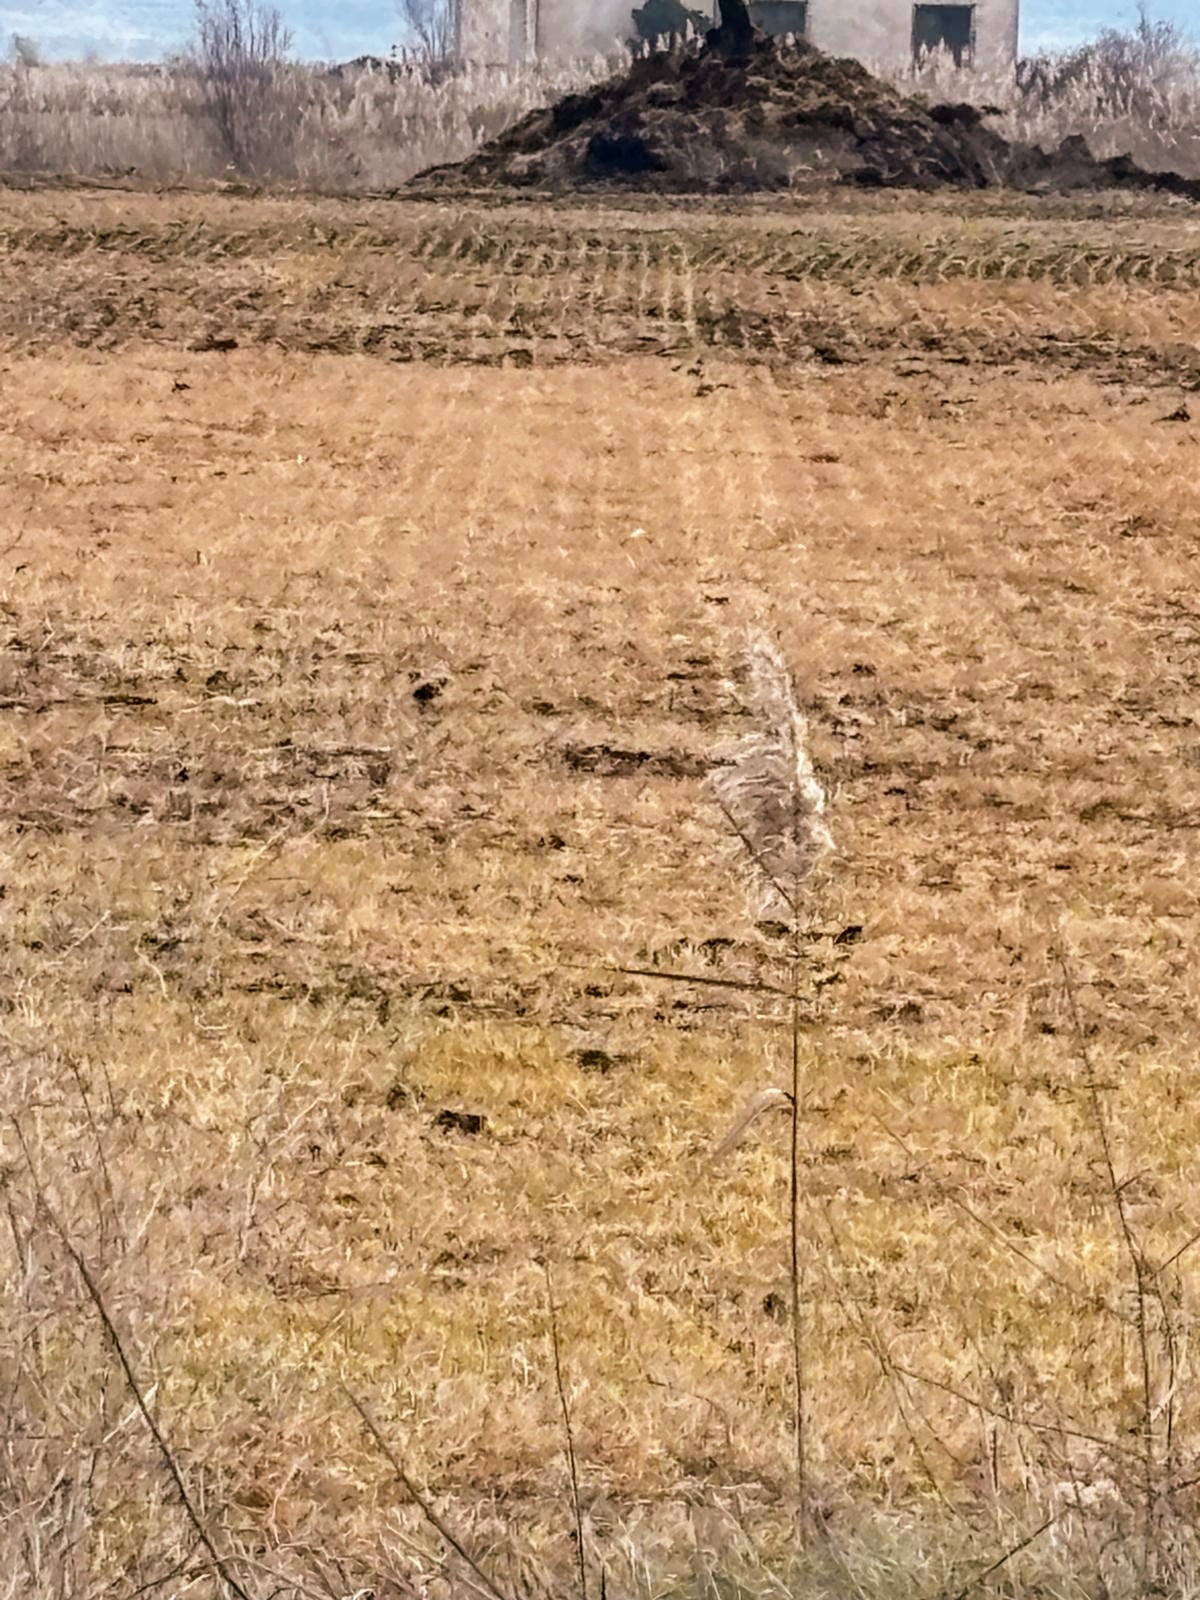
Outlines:
<svg viewBox="0 0 1200 1600"><path fill-rule="evenodd" d="M5 1594L221 1592L67 1240L256 1600L485 1592L346 1390L568 1590L542 1262L594 1594L1200 1587L1198 290L1112 197L0 194ZM747 626L803 1552L784 1032L618 971L778 981Z"/></svg>

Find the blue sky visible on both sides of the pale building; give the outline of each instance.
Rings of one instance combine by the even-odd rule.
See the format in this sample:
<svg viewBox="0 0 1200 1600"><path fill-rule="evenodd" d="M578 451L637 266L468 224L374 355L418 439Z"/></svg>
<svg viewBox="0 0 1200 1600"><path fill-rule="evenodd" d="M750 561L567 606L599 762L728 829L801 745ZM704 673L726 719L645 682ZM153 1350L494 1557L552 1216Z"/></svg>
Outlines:
<svg viewBox="0 0 1200 1600"><path fill-rule="evenodd" d="M275 0L294 34L296 54L346 59L384 54L400 37L395 0ZM634 0L630 0L630 5ZM1200 0L1150 0L1150 14L1200 34ZM1022 50L1067 48L1102 27L1136 21L1136 0L1022 0ZM46 58L155 59L190 32L190 0L0 0L0 50L13 34L34 38Z"/></svg>

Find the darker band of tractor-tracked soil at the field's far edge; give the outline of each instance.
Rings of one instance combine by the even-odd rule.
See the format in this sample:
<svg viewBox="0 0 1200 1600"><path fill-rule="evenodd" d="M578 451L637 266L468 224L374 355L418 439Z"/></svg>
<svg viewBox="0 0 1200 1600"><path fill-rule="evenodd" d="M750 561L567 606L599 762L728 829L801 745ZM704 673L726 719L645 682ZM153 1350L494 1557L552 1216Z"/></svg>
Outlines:
<svg viewBox="0 0 1200 1600"><path fill-rule="evenodd" d="M277 349L440 365L704 352L1200 384L1186 219L53 192L0 206L0 349ZM1102 206L1099 208L1104 210ZM8 211L8 214L5 214Z"/></svg>

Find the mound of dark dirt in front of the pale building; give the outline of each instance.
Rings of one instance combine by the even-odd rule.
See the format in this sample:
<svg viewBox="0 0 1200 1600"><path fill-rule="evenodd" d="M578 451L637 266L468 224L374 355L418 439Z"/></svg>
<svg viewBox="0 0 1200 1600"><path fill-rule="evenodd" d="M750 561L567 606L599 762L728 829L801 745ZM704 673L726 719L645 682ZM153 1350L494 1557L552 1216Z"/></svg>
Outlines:
<svg viewBox="0 0 1200 1600"><path fill-rule="evenodd" d="M418 182L470 187L621 182L667 190L784 189L811 181L931 189L1165 189L1200 181L1096 160L1083 139L1010 144L974 106L925 106L858 61L755 34L722 48L638 58L584 94L531 112L456 166Z"/></svg>

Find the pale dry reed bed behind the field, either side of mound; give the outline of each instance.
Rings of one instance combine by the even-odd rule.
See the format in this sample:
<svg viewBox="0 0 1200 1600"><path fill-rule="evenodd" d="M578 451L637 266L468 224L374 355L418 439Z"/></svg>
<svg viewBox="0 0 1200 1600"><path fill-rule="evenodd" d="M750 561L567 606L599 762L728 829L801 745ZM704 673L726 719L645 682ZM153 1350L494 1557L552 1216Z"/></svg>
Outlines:
<svg viewBox="0 0 1200 1600"><path fill-rule="evenodd" d="M467 157L536 106L586 88L618 56L472 67L440 80L381 66L330 72L282 64L248 144L250 174L267 182L362 192ZM1046 59L1045 70L1054 70ZM1200 67L1182 42L1102 53L1048 96L1013 74L926 67L886 74L904 91L997 106L1010 139L1054 147L1083 134L1099 157L1200 173ZM250 88L246 90L250 93ZM0 150L18 173L128 174L141 181L229 176L195 72L174 66L0 66Z"/></svg>

